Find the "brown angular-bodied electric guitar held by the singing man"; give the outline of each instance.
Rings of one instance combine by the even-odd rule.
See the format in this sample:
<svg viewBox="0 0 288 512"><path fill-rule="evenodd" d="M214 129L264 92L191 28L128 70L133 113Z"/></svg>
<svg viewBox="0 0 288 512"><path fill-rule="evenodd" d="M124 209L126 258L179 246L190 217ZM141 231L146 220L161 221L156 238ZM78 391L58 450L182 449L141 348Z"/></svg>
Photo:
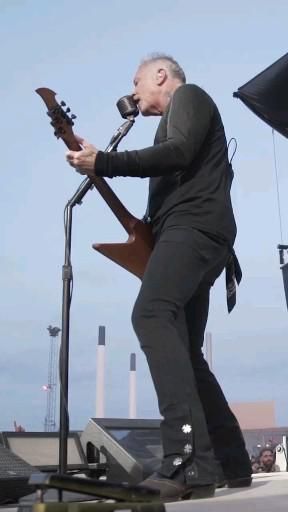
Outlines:
<svg viewBox="0 0 288 512"><path fill-rule="evenodd" d="M48 109L47 114L51 118L51 125L55 130L54 135L58 139L62 139L68 149L80 151L82 148L78 144L72 128L73 119L76 116L69 115L69 108L64 110L63 107L66 107L66 104L63 101L59 104L55 98L56 93L51 89L41 87L36 89L36 92L41 96ZM134 217L125 208L104 178L95 176L89 179L91 187L94 185L98 190L128 234L126 242L94 243L93 249L142 279L154 245L151 227Z"/></svg>

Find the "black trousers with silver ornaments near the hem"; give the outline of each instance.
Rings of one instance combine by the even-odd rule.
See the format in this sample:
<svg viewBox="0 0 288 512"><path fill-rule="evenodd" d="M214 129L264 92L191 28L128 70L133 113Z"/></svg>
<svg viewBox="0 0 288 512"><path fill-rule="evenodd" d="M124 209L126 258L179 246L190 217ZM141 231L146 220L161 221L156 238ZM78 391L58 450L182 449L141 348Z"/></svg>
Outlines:
<svg viewBox="0 0 288 512"><path fill-rule="evenodd" d="M202 353L209 291L228 254L226 244L191 227L164 229L132 313L163 417L160 472L172 477L183 469L192 484L214 482L215 455L225 466L228 431L236 458L246 453L237 420Z"/></svg>

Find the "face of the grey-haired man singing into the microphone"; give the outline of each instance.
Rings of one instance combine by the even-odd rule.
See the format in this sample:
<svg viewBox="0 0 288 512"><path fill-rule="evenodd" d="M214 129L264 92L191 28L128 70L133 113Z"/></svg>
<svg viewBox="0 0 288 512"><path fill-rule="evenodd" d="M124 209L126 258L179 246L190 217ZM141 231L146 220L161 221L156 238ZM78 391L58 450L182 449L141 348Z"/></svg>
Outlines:
<svg viewBox="0 0 288 512"><path fill-rule="evenodd" d="M140 66L134 77L134 100L143 116L159 115L159 92L157 69L155 64L148 63Z"/></svg>

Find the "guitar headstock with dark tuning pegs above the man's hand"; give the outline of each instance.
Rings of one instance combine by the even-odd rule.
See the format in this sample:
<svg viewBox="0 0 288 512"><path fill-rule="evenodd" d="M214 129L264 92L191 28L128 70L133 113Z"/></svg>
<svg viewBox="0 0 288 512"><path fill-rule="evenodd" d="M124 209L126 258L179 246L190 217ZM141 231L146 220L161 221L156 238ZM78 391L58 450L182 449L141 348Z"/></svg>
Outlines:
<svg viewBox="0 0 288 512"><path fill-rule="evenodd" d="M47 115L51 118L50 124L54 128L54 135L57 139L62 139L69 149L79 151L81 147L75 139L72 128L74 125L73 120L76 116L74 114L70 114L70 108L66 107L66 103L64 101L58 103L55 98L56 93L51 91L51 89L40 87L39 89L36 89L36 92L41 96L48 109ZM66 107L65 110L64 107Z"/></svg>

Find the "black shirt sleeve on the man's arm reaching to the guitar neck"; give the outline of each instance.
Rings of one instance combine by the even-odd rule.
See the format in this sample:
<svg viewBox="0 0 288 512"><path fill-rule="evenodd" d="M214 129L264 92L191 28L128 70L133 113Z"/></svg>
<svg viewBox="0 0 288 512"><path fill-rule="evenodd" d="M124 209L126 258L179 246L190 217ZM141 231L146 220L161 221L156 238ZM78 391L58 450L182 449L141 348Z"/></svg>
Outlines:
<svg viewBox="0 0 288 512"><path fill-rule="evenodd" d="M189 168L209 131L213 112L213 101L200 87L180 86L171 100L167 140L135 151L99 151L96 175L147 178Z"/></svg>

